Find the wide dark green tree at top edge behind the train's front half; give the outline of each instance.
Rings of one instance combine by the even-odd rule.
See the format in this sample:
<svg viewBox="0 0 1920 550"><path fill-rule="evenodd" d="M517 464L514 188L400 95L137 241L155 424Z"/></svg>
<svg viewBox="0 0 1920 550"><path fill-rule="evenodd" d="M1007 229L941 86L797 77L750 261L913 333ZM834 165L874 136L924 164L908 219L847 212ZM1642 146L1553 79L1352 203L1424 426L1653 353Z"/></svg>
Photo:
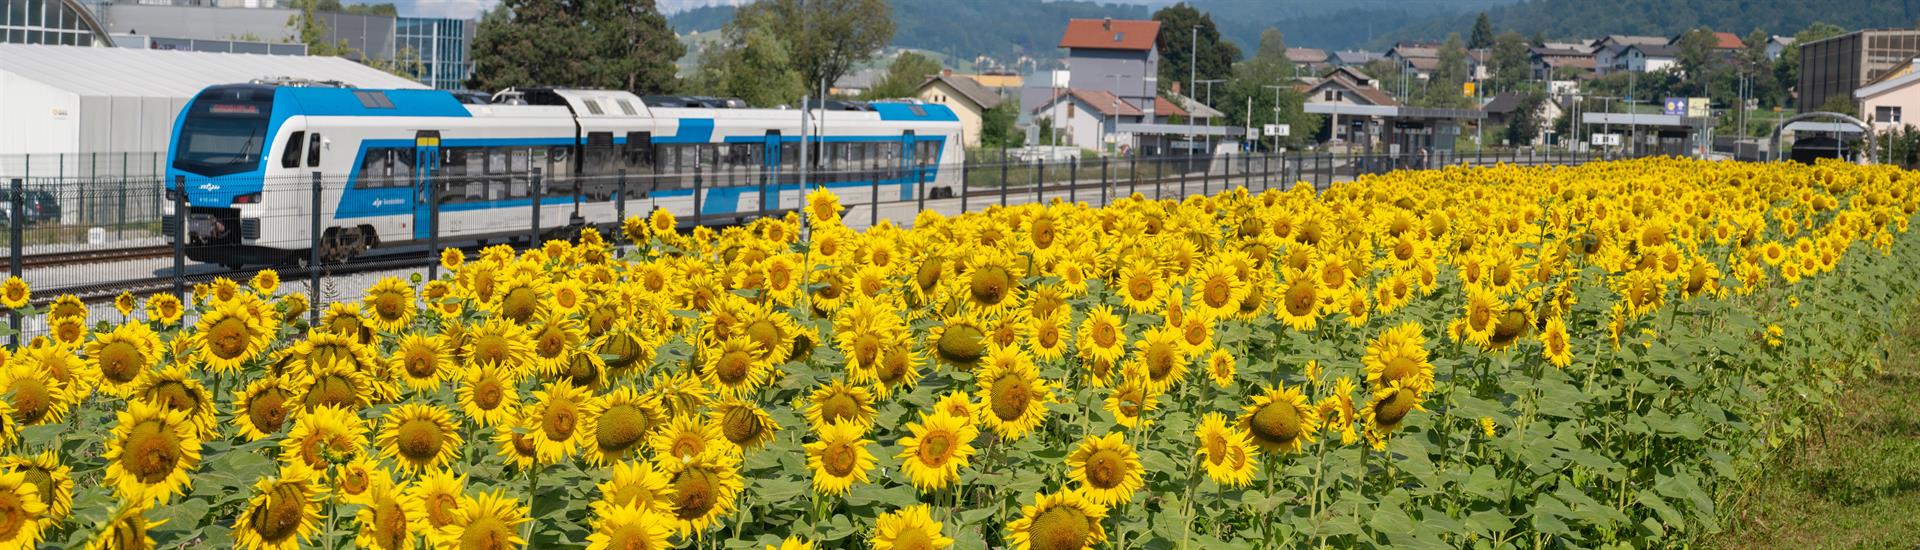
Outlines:
<svg viewBox="0 0 1920 550"><path fill-rule="evenodd" d="M501 0L474 33L468 87L657 94L684 52L653 0Z"/></svg>

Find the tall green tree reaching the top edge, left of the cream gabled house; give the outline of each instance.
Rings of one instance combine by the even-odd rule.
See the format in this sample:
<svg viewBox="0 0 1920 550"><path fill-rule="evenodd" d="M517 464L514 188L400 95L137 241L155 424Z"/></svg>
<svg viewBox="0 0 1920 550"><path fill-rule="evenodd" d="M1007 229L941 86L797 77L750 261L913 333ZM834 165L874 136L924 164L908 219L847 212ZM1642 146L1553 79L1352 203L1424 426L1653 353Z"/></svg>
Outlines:
<svg viewBox="0 0 1920 550"><path fill-rule="evenodd" d="M762 17L787 42L808 87L839 81L893 40L887 0L764 0L735 17Z"/></svg>

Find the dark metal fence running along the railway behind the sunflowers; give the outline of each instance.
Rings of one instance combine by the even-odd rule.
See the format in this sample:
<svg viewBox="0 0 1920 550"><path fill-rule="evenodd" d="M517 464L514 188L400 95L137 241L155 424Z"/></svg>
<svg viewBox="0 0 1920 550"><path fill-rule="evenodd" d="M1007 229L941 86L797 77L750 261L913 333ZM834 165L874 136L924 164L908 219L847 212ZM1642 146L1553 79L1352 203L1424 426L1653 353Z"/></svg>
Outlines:
<svg viewBox="0 0 1920 550"><path fill-rule="evenodd" d="M106 167L108 160L123 160ZM843 196L845 223L870 227L879 221L912 225L924 210L947 215L996 206L1033 202L1085 202L1104 206L1123 196L1185 198L1236 187L1252 192L1290 188L1308 183L1327 188L1369 173L1430 169L1444 165L1546 165L1597 160L1578 152L1505 154L1219 154L1169 158L1079 158L1068 162L1020 162L1014 158L973 158L964 165L860 165L804 175L808 185L828 183ZM65 173L60 167L88 169ZM134 169L136 165L144 165ZM0 160L6 200L6 242L0 248L13 277L35 288L35 300L77 294L86 302L106 302L119 292L184 292L190 285L215 277L244 281L261 267L275 267L292 290L311 292L315 304L346 298L321 292L323 279L359 273L422 271L432 277L442 248L468 252L486 244L538 244L572 237L580 227L597 225L620 242L618 221L670 206L682 225L735 225L756 217L785 215L801 206L801 173L778 167L705 169L676 173L618 173L572 177L566 169L511 165L509 171L438 173L430 179L388 181L386 194L401 204L428 204L403 223L401 235L357 235L336 229L349 188L365 192L376 183L346 181L321 173L263 183L259 215L221 217L186 210L186 181L163 181L152 156L92 156ZM44 173L54 169L54 173ZM943 177L945 175L945 177ZM920 185L924 183L924 185ZM954 185L958 183L958 185ZM361 194L365 196L365 194ZM716 210L712 200L732 200ZM499 215L476 204L534 206L516 215ZM171 206L171 208L169 208ZM411 212L411 210L409 210ZM182 227L184 223L184 227ZM194 238L171 238L171 235ZM213 235L219 235L217 238ZM202 238L204 237L204 238ZM401 246L382 246L407 240ZM267 244L263 250L232 246ZM19 260L19 262L13 262ZM240 265L244 263L244 265ZM313 265L309 269L309 265ZM365 277L361 277L365 279ZM298 285L294 281L305 281ZM351 285L348 285L351 287ZM319 310L319 308L315 308ZM23 327L35 333L35 327Z"/></svg>

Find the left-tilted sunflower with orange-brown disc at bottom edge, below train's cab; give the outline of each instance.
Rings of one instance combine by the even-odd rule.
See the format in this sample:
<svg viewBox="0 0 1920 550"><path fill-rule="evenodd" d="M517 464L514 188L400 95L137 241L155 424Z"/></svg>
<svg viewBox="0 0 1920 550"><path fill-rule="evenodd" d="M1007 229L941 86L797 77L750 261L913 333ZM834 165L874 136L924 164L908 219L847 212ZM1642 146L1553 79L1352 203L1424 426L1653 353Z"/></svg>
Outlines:
<svg viewBox="0 0 1920 550"><path fill-rule="evenodd" d="M234 519L236 546L300 548L321 527L321 498L315 473L301 467L253 483L253 498Z"/></svg>

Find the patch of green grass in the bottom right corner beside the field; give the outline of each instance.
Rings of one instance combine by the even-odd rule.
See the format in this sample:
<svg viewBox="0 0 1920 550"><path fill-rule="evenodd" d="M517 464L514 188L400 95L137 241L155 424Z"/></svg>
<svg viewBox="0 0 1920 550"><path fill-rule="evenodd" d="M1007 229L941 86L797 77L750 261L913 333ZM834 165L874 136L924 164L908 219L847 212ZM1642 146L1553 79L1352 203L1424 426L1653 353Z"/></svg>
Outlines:
<svg viewBox="0 0 1920 550"><path fill-rule="evenodd" d="M1784 448L1713 548L1914 548L1920 531L1920 306L1853 385L1826 437Z"/></svg>

